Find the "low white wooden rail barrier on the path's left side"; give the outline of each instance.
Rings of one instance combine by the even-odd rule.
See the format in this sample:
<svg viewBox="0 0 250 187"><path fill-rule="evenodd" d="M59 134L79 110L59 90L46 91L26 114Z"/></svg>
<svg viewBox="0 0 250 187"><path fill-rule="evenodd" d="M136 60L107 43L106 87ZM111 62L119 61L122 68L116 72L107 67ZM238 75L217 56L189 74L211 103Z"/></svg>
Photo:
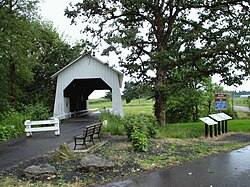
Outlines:
<svg viewBox="0 0 250 187"><path fill-rule="evenodd" d="M60 120L58 118L53 118L50 120L39 120L31 121L26 120L24 122L25 133L27 137L32 136L32 132L46 132L55 131L55 135L60 135Z"/></svg>

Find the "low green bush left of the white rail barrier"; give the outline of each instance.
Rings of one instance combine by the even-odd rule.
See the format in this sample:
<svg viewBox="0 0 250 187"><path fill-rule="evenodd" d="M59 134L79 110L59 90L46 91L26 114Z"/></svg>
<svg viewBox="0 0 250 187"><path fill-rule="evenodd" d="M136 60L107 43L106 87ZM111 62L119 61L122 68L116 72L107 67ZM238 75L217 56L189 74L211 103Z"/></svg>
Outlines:
<svg viewBox="0 0 250 187"><path fill-rule="evenodd" d="M0 115L0 140L15 138L24 133L25 116L14 109Z"/></svg>

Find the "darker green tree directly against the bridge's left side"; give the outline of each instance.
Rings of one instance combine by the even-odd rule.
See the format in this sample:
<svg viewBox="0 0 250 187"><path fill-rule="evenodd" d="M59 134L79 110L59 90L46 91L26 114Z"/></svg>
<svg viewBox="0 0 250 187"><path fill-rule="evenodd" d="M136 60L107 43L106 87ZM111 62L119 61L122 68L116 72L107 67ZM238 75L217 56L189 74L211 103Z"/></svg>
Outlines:
<svg viewBox="0 0 250 187"><path fill-rule="evenodd" d="M36 21L35 53L37 63L32 68L34 78L25 88L26 103L42 102L50 109L54 105L56 80L51 75L76 59L83 50L80 44L69 45L52 23Z"/></svg>

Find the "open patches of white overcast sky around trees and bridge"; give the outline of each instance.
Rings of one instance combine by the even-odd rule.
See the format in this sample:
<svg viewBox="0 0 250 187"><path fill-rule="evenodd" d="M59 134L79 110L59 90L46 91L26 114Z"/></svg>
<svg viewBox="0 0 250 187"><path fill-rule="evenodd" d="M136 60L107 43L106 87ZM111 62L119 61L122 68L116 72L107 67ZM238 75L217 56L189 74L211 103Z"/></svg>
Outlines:
<svg viewBox="0 0 250 187"><path fill-rule="evenodd" d="M49 20L53 22L53 25L55 28L57 28L58 32L62 34L64 38L71 44L79 41L82 37L81 29L83 28L83 25L81 23L78 23L77 25L71 25L71 20L64 16L64 10L67 6L69 6L69 3L73 2L79 2L79 0L42 0L40 3L40 14L45 20ZM118 65L118 58L115 55L112 55L110 57L101 56L100 53L96 53L96 57L99 58L103 62L109 62L109 65L115 65L118 70L121 70L121 68ZM125 77L125 80L128 81L129 78ZM219 76L213 77L213 82L219 84ZM226 90L230 91L250 91L250 80L244 81L243 85L241 86L225 86L221 85ZM97 98L104 96L105 92L103 91L95 91L90 98Z"/></svg>

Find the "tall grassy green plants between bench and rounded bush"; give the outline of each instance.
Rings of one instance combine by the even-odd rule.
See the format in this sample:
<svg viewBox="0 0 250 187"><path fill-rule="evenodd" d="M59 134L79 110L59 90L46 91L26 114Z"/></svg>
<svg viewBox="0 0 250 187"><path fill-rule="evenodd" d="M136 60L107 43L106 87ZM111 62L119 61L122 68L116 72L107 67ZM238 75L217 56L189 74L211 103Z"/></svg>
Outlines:
<svg viewBox="0 0 250 187"><path fill-rule="evenodd" d="M122 118L118 115L109 112L102 112L100 121L107 120L107 126L102 125L102 131L110 132L112 135L123 135L124 127L122 125Z"/></svg>

